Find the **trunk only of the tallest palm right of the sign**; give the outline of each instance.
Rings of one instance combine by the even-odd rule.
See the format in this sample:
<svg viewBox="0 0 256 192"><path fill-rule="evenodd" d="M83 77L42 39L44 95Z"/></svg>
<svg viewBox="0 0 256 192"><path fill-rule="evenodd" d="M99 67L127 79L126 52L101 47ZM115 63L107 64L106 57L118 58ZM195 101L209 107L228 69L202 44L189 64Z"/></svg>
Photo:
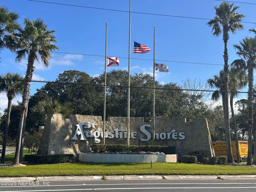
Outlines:
<svg viewBox="0 0 256 192"><path fill-rule="evenodd" d="M230 126L229 126L229 110L228 110L228 26L223 26L223 41L224 41L224 74L225 74L225 85L224 85L224 91L225 91L225 98L224 103L225 110L224 113L224 122L225 122L225 130L226 130L226 142L227 142L227 154L228 154L228 163L235 163L234 157L232 154L231 149L231 139L230 139ZM224 109L224 108L223 108Z"/></svg>

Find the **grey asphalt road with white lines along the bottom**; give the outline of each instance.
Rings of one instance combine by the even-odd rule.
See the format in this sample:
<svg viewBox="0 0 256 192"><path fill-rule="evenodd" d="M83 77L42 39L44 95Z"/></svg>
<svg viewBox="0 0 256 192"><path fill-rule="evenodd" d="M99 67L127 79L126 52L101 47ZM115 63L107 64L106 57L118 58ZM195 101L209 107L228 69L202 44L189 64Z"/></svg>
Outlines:
<svg viewBox="0 0 256 192"><path fill-rule="evenodd" d="M211 192L256 191L256 180L91 180L0 181L0 191L117 191L117 192ZM14 186L15 185L15 186Z"/></svg>

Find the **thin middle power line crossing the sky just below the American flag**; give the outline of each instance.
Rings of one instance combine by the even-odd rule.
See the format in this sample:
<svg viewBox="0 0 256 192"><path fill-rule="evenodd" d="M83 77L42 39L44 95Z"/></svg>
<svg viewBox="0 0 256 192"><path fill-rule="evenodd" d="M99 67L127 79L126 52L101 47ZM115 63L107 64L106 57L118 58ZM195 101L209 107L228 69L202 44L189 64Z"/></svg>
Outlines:
<svg viewBox="0 0 256 192"><path fill-rule="evenodd" d="M60 52L60 51L52 51L52 53L61 53L61 54L77 54L77 55L85 55L85 56L93 56L93 57L105 57L105 55L98 55L98 54L86 54L86 53L72 53L72 52ZM111 57L111 56L110 56ZM127 57L119 57L115 55L115 57L121 59L128 59ZM131 58L134 60L145 60L145 61L153 61L153 59L141 59L141 58ZM213 66L223 66L217 63L204 63L204 62L189 62L189 61L174 61L174 60L155 60L160 62L175 62L175 63L191 63L191 64L198 64L198 65L213 65Z"/></svg>

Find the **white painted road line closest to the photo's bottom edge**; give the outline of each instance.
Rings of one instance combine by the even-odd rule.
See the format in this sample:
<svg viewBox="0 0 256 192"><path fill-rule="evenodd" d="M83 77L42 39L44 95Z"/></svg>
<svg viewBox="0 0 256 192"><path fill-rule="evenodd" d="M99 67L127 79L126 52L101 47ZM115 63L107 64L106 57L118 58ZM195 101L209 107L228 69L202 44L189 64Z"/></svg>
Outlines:
<svg viewBox="0 0 256 192"><path fill-rule="evenodd" d="M5 192L77 191L77 190L129 190L129 189L254 189L254 188L256 188L256 187L132 187L132 188L16 190L16 191L5 191Z"/></svg>

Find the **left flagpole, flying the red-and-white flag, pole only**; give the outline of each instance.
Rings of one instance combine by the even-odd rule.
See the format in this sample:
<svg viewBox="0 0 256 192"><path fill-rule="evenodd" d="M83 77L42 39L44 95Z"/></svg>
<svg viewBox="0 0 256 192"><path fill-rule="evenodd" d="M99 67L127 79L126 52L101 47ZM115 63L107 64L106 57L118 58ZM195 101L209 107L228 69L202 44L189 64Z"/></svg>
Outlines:
<svg viewBox="0 0 256 192"><path fill-rule="evenodd" d="M107 90L107 38L108 38L108 23L106 23L106 39L105 39L105 83L104 83L104 109L103 109L103 145L105 142L106 131L106 90Z"/></svg>

